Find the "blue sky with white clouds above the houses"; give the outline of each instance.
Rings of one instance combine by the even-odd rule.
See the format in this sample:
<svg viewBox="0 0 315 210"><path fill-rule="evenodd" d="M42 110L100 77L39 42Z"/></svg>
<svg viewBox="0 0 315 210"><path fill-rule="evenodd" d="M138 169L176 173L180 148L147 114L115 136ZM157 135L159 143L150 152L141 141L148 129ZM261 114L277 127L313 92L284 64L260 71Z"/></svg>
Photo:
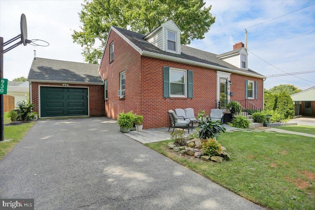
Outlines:
<svg viewBox="0 0 315 210"><path fill-rule="evenodd" d="M40 58L83 62L81 47L73 43L71 38L71 30L79 30L81 25L78 13L82 2L0 0L0 36L4 41L20 33L20 17L24 13L28 24L28 38L43 39L50 43L49 47L20 45L5 53L4 78L12 80L20 76L27 77L33 50L36 50L36 57ZM235 43L245 42L244 29L248 29L251 69L263 75L315 70L315 0L205 2L206 5L212 5L211 13L216 17L216 23L205 34L204 39L192 41L191 47L216 54L228 52L233 50ZM301 9L303 7L307 8ZM293 12L298 9L301 10ZM290 14L285 15L287 13ZM269 21L274 18L277 19ZM252 27L257 24L260 25ZM241 32L231 36L238 31ZM267 78L264 87L290 84L305 90L315 86L315 72L295 76Z"/></svg>

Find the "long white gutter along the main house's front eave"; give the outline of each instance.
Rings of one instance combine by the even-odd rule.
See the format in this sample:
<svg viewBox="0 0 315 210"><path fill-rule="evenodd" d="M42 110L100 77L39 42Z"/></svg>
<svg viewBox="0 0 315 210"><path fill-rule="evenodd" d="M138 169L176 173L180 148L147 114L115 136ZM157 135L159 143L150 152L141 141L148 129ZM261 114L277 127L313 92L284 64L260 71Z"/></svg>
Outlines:
<svg viewBox="0 0 315 210"><path fill-rule="evenodd" d="M233 70L233 69L230 69L230 68L225 68L225 67L221 67L221 66L206 64L206 63L197 62L197 61L193 61L193 60L186 60L186 59L176 58L176 57L162 55L162 54L158 54L158 53L152 53L152 52L149 52L149 51L139 51L139 53L140 53L141 56L147 56L147 57L150 57L150 58L156 58L156 59L162 59L162 60L170 60L170 61L174 61L174 62L181 62L181 63L190 64L190 65L195 65L195 66L200 66L200 67L205 67L205 68L211 68L211 69L215 69L215 70L225 71L225 72L229 72L229 73L235 73L235 74L251 76L251 77L260 78L260 79L265 79L266 78L265 76L252 74L252 73L249 73L249 72L242 72L242 71Z"/></svg>

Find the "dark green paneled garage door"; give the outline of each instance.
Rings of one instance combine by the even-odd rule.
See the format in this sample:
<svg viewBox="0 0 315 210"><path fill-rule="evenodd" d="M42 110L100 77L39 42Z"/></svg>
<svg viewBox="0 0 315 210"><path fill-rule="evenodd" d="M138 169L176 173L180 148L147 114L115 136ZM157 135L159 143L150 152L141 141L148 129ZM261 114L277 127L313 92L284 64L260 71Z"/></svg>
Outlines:
<svg viewBox="0 0 315 210"><path fill-rule="evenodd" d="M40 116L88 115L87 88L40 87Z"/></svg>

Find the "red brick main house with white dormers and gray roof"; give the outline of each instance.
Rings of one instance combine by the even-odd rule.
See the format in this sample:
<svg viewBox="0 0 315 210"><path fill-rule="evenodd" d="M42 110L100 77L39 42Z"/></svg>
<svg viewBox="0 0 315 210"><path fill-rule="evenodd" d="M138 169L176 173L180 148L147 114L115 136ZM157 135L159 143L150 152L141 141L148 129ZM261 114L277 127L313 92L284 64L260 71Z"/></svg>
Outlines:
<svg viewBox="0 0 315 210"><path fill-rule="evenodd" d="M263 108L263 75L248 68L243 43L216 55L180 44L173 21L148 35L111 27L99 73L105 83L105 115L133 110L144 128L168 126L167 111L191 107L207 114L219 100Z"/></svg>

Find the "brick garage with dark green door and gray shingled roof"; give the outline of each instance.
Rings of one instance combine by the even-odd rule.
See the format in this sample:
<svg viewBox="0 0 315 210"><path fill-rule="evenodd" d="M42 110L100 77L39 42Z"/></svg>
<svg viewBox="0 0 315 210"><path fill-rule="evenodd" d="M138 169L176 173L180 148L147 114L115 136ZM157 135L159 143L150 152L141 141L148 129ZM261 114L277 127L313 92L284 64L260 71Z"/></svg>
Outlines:
<svg viewBox="0 0 315 210"><path fill-rule="evenodd" d="M28 81L39 117L104 116L104 82L97 64L34 58Z"/></svg>

